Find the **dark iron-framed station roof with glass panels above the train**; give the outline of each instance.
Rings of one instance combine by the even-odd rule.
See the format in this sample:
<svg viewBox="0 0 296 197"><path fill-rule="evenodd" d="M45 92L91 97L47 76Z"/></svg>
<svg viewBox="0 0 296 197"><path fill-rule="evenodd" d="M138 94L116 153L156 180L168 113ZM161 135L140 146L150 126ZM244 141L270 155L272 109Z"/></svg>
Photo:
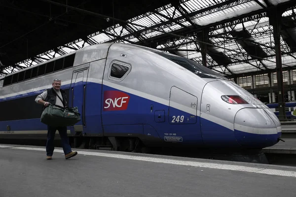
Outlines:
<svg viewBox="0 0 296 197"><path fill-rule="evenodd" d="M276 66L269 19L275 6L283 12L283 67L296 66L296 0L6 0L0 76L104 42L157 48L200 64L205 55L206 66L229 77L263 73Z"/></svg>

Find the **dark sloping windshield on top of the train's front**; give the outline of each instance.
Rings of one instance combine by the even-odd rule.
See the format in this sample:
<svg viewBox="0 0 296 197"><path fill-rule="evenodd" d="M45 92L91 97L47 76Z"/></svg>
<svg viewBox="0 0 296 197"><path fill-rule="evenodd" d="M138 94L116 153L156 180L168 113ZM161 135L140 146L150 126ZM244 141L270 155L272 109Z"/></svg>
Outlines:
<svg viewBox="0 0 296 197"><path fill-rule="evenodd" d="M215 78L215 79L225 79L228 80L226 77L220 75L219 73L215 72L214 70L211 70L210 68L207 68L205 66L202 66L192 60L189 60L187 58L183 57L176 57L172 55L168 55L165 53L157 53L158 55L161 55L162 57L169 59L170 61L173 61L174 63L186 68L187 70L193 72L194 74L198 75L202 78Z"/></svg>

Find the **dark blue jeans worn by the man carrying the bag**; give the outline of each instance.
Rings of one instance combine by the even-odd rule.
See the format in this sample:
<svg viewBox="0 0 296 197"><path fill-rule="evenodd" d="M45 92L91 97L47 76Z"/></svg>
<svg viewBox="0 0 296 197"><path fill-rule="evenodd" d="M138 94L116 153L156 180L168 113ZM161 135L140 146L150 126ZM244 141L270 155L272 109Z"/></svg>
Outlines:
<svg viewBox="0 0 296 197"><path fill-rule="evenodd" d="M68 153L72 152L69 137L67 135L67 127L50 127L47 126L47 142L46 142L46 155L52 156L54 150L54 136L56 131L59 131L62 146L64 150L64 154L67 155Z"/></svg>

